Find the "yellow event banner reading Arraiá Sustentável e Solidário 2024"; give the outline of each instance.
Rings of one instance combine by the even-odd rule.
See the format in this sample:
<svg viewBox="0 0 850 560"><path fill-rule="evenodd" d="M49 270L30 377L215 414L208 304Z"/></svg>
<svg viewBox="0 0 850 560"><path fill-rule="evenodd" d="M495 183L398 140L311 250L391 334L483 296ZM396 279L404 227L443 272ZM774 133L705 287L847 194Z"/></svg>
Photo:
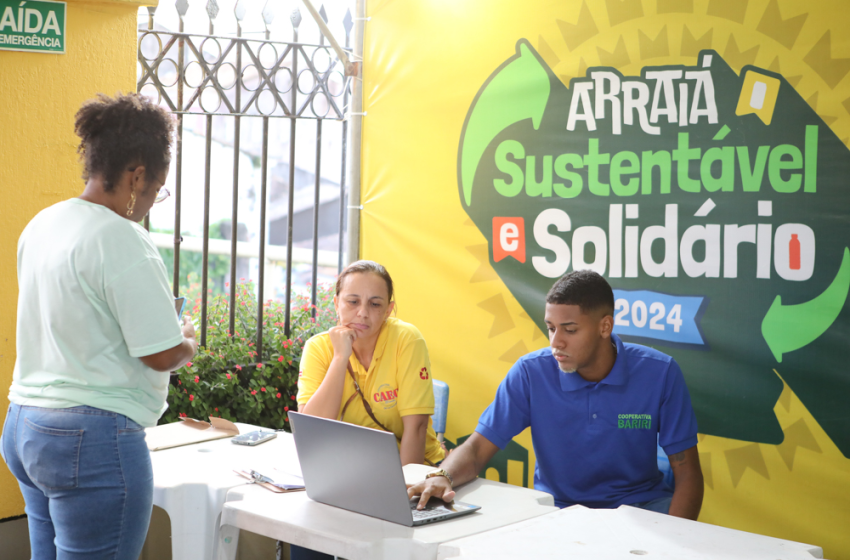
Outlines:
<svg viewBox="0 0 850 560"><path fill-rule="evenodd" d="M845 2L370 0L367 16L361 254L450 386L450 443L548 344L554 280L590 268L614 332L682 367L700 520L850 560ZM533 473L526 431L485 474Z"/></svg>

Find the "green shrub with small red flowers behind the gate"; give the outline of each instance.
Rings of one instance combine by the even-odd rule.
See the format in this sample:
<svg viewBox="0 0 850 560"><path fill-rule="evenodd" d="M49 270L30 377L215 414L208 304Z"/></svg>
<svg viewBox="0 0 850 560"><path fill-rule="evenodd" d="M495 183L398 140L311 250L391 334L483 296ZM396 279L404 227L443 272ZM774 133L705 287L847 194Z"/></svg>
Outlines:
<svg viewBox="0 0 850 560"><path fill-rule="evenodd" d="M189 275L186 314L200 338L200 285ZM264 428L289 431L289 410L297 405L298 366L304 343L335 324L333 289L318 288L315 318L309 296L295 295L290 335L284 335L285 307L276 301L263 305L263 354L257 354L257 297L254 285L240 283L236 290L236 328L228 332L229 297L212 296L207 305L207 344L178 370L177 383L168 389L168 410L161 424L179 417L207 419L218 416Z"/></svg>

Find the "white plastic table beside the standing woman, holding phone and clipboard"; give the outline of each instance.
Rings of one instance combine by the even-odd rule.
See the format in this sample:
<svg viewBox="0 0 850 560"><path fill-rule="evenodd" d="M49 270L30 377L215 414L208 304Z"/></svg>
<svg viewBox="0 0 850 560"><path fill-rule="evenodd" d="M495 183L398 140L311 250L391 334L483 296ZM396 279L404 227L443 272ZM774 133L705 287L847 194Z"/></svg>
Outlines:
<svg viewBox="0 0 850 560"><path fill-rule="evenodd" d="M239 433L260 429L237 424ZM233 472L295 457L290 434L255 447L234 445L230 438L151 452L153 503L171 521L173 560L212 560L218 543L221 509L231 488L248 481Z"/></svg>

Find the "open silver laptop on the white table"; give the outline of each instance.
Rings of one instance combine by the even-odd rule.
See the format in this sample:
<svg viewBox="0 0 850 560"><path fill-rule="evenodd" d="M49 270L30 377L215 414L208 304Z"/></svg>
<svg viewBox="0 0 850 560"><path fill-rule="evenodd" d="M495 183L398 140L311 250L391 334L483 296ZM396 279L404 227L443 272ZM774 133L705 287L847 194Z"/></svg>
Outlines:
<svg viewBox="0 0 850 560"><path fill-rule="evenodd" d="M481 509L432 498L408 500L395 435L336 420L289 413L310 499L408 527Z"/></svg>

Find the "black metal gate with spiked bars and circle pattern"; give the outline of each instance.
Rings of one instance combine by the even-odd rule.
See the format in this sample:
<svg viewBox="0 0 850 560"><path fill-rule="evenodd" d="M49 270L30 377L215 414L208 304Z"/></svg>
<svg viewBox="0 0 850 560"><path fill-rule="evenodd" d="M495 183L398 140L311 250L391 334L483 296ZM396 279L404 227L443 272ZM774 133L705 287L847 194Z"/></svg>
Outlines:
<svg viewBox="0 0 850 560"><path fill-rule="evenodd" d="M196 0L197 1L197 0ZM206 345L207 338L207 297L209 286L209 255L210 255L210 208L211 208L211 184L229 180L231 187L232 215L230 218L230 302L236 301L236 276L237 260L239 258L238 246L239 230L239 203L240 193L245 189L259 191L259 283L258 298L260 305L257 306L257 352L262 355L263 347L263 305L266 250L268 247L269 231L267 231L267 208L269 205L269 176L270 160L279 167L288 167L286 178L286 212L285 221L281 217L277 222L282 222L285 234L276 237L286 240L286 267L285 267L285 308L286 322L285 333L290 332L290 308L293 293L293 250L294 233L297 233L295 224L299 223L299 213L295 209L296 184L299 180L303 183L304 176L309 176L309 169L301 165L301 160L312 163L312 282L311 302L316 304L317 295L317 271L321 220L326 222L336 221L338 226L338 240L336 249L338 260L336 270L339 271L343 264L344 250L344 221L346 215L346 156L348 151L348 122L345 119L346 106L351 95L351 83L344 76L340 61L334 56L333 51L325 44L321 37L317 44L306 44L298 41L299 27L302 16L299 10L294 10L290 17L291 39L288 41L275 40L271 37L270 26L275 18L275 3L270 1L262 11L262 20L265 31L261 37L243 33L243 22L247 13L246 0L238 0L234 16L236 29L234 36L216 35L215 21L219 15L219 8L215 0L209 0L206 4L206 17L209 20L209 32L207 34L187 33L184 31L184 18L189 10L188 0L177 0L175 8L179 17L179 28L174 30L164 29L157 23L156 8L148 8L147 25L141 25L139 29L138 42L138 85L140 93L150 95L159 103L167 107L177 119L177 139L174 164L171 175L174 177L174 217L173 217L173 286L175 297L178 295L181 262L181 244L184 239L181 235L181 220L187 216L187 212L203 212L202 231L202 275L201 275L201 320L200 320L200 343ZM162 9L162 8L160 8ZM324 8L320 14L325 22L328 21ZM353 19L350 10L342 19L342 27L345 31L345 47L350 51L350 35L353 27ZM309 22L312 23L312 22ZM203 162L187 161L184 154L184 129L186 119L192 123L202 125L205 150ZM250 128L255 129L254 123L260 121L261 133L257 131L249 143L254 152L251 152L252 161L258 161L260 168L259 184L240 184L240 159L248 150L243 142L245 133L243 124L247 119ZM312 121L315 126L315 135L309 134L306 129L307 123ZM323 143L323 125L326 129L333 126L330 131L337 139L337 149L330 155L339 158L338 185L334 185L332 179L323 178L322 160L328 154L325 143ZM270 140L270 130L274 129L282 134L282 128L288 125L288 154L277 153L283 150L280 146ZM307 130L307 132L305 132ZM201 130L198 134L200 135ZM328 131L325 131L326 140ZM305 141L305 136L308 138ZM311 138L312 136L312 138ZM315 140L314 148L310 147L310 140ZM213 144L217 146L229 146L233 154L232 179L213 176ZM296 157L296 147L302 152L307 150L308 157ZM314 150L314 151L312 151ZM259 151L259 153L256 153ZM199 159L199 158L198 158ZM184 195L184 182L187 174L199 173L203 170L203 208L182 208ZM324 182L324 184L323 184ZM305 187L302 184L300 195L305 195ZM322 202L322 189L338 189L336 198L337 208L333 204ZM332 193L333 194L333 193ZM304 198L304 196L301 196ZM333 203L333 197L331 197ZM282 201L281 201L282 202ZM282 204L281 204L282 205ZM301 214L306 211L302 210ZM302 216L303 218L303 216ZM146 227L150 228L150 217L145 219ZM307 220L308 222L310 220ZM300 220L301 223L305 219ZM155 225L155 224L154 224ZM244 225L244 224L243 224ZM328 228L324 228L328 229ZM330 229L333 229L332 227ZM242 233L244 237L244 232ZM306 253L304 248L302 252ZM229 332L235 331L235 305L230 305ZM315 308L314 311L315 313Z"/></svg>

